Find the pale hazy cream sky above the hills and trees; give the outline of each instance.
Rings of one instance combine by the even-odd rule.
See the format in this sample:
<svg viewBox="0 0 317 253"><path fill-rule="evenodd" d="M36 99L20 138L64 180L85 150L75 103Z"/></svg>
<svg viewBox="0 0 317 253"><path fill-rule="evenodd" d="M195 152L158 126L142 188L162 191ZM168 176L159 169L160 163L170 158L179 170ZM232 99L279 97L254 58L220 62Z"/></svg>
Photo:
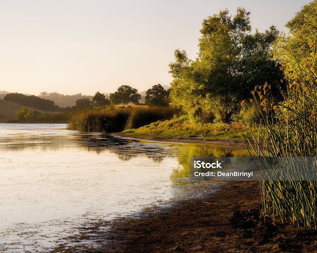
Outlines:
<svg viewBox="0 0 317 253"><path fill-rule="evenodd" d="M168 85L174 50L198 52L204 18L251 12L253 29L285 23L306 0L0 0L0 90L92 95Z"/></svg>

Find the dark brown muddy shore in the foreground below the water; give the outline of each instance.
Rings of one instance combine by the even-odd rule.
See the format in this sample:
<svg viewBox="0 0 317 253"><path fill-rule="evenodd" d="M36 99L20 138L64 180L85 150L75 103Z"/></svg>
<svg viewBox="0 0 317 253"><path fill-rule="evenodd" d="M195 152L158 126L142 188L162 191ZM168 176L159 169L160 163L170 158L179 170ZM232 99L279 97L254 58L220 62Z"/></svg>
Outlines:
<svg viewBox="0 0 317 253"><path fill-rule="evenodd" d="M292 224L260 217L257 188L258 182L223 184L204 198L182 201L167 210L148 210L141 219L117 219L108 232L98 233L96 226L92 235L73 238L98 242L102 245L98 249L61 245L52 252L315 251L316 231L300 231Z"/></svg>

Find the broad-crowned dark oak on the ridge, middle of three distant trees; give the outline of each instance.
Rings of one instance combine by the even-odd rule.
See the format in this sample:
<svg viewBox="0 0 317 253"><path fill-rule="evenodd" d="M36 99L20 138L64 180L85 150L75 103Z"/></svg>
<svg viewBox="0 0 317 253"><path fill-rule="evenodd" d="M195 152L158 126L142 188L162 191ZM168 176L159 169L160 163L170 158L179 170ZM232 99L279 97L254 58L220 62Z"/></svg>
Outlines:
<svg viewBox="0 0 317 253"><path fill-rule="evenodd" d="M141 95L138 94L138 90L128 85L122 85L116 92L110 93L110 101L113 104L138 103L140 99Z"/></svg>

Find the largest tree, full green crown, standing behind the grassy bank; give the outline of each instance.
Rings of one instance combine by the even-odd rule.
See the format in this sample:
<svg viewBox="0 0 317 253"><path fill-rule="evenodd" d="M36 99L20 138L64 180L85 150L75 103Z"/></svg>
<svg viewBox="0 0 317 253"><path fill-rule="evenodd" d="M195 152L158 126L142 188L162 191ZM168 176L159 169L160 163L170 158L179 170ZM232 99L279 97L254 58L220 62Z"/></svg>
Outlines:
<svg viewBox="0 0 317 253"><path fill-rule="evenodd" d="M230 121L237 103L251 96L256 85L280 80L282 73L269 51L279 31L274 26L251 34L249 12L238 8L235 16L226 9L204 19L199 53L195 61L175 51L171 62L171 101L192 119L210 121L214 116Z"/></svg>

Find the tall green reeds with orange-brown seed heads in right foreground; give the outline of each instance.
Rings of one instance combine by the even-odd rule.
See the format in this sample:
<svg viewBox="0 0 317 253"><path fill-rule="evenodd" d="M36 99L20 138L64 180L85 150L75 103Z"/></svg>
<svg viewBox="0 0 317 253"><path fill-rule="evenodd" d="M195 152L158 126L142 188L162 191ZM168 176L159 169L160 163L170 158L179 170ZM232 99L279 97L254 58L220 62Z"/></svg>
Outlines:
<svg viewBox="0 0 317 253"><path fill-rule="evenodd" d="M316 68L316 59L313 64ZM287 95L284 95L283 101L276 101L273 96L262 96L269 94L267 85L254 93L256 104L259 104L262 112L262 122L253 136L257 156L317 155L316 74L306 68L300 73L292 71L291 75L296 78L287 78ZM292 168L285 173L292 180L296 178L297 171ZM303 178L309 178L311 175L308 174L312 171L305 170L303 173ZM273 219L279 215L282 221L290 218L298 226L317 229L317 182L275 180L261 183L263 215L271 214Z"/></svg>

